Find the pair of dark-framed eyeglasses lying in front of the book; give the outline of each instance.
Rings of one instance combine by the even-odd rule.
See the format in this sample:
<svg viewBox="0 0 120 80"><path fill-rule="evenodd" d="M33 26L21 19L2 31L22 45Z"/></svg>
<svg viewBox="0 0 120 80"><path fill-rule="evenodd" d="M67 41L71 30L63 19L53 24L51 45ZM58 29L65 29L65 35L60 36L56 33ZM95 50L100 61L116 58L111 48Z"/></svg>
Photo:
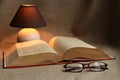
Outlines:
<svg viewBox="0 0 120 80"><path fill-rule="evenodd" d="M104 62L90 62L90 63L67 63L63 67L66 72L82 72L84 68L88 68L93 72L104 71L107 68L107 64Z"/></svg>

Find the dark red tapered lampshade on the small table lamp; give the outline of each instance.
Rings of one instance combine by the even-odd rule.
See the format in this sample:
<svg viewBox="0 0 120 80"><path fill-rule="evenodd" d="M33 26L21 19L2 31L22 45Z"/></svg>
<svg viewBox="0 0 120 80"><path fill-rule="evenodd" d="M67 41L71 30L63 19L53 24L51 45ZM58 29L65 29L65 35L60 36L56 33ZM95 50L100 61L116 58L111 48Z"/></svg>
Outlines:
<svg viewBox="0 0 120 80"><path fill-rule="evenodd" d="M10 23L10 26L18 28L38 28L46 25L36 6L30 4L21 5Z"/></svg>

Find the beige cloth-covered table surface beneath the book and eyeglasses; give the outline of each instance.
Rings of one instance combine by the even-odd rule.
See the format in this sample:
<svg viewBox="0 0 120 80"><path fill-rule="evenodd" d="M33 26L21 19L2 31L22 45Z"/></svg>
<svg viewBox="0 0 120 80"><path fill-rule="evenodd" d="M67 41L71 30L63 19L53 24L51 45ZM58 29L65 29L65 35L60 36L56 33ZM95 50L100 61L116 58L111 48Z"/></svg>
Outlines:
<svg viewBox="0 0 120 80"><path fill-rule="evenodd" d="M109 68L106 71L88 72L84 70L80 73L70 73L63 72L63 65L3 69L2 60L0 60L0 80L119 80L119 49L105 45L100 45L99 48L109 55L116 57L115 60L104 61L108 64Z"/></svg>

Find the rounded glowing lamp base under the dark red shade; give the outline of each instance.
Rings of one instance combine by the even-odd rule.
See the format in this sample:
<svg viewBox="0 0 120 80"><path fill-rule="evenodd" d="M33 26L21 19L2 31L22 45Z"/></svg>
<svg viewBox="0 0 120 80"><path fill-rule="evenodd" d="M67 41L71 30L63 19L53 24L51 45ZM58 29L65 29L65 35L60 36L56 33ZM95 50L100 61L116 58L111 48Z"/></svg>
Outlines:
<svg viewBox="0 0 120 80"><path fill-rule="evenodd" d="M40 40L39 32L34 28L24 28L18 32L17 42Z"/></svg>

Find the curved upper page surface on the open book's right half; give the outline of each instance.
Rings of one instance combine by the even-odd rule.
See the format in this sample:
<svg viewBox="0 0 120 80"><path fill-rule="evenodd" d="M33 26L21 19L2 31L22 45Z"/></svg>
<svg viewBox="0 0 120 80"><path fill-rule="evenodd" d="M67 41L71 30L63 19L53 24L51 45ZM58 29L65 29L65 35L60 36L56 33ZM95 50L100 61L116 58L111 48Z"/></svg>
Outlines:
<svg viewBox="0 0 120 80"><path fill-rule="evenodd" d="M72 38L72 37L63 37L63 36L52 38L49 42L49 45L59 53L64 53L68 49L75 48L75 47L85 47L85 48L96 49L96 47L80 39Z"/></svg>

